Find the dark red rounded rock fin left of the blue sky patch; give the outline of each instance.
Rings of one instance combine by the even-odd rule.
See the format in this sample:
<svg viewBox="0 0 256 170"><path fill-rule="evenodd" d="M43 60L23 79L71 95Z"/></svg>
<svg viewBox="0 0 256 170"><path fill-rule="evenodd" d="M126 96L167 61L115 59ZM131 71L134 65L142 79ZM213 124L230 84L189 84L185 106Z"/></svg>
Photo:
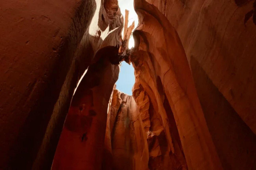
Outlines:
<svg viewBox="0 0 256 170"><path fill-rule="evenodd" d="M118 73L107 58L89 66L73 96L52 170L101 169L108 101Z"/></svg>

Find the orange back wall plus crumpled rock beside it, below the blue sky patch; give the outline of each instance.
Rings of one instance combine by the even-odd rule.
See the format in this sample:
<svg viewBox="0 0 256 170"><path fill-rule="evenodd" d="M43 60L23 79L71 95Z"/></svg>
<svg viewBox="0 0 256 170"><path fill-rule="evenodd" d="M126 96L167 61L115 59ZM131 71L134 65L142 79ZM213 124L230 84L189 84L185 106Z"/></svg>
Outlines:
<svg viewBox="0 0 256 170"><path fill-rule="evenodd" d="M135 97L113 90L103 169L187 169L175 122L171 122L172 126L169 123L164 126L146 91L136 89L134 93ZM163 111L164 105L169 106L162 103ZM166 110L171 111L170 108Z"/></svg>

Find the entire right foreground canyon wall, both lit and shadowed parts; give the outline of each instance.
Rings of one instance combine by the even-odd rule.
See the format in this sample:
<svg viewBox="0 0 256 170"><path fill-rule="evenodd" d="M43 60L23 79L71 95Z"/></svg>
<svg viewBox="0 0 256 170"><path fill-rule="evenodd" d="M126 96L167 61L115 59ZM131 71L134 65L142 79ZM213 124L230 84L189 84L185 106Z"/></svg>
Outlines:
<svg viewBox="0 0 256 170"><path fill-rule="evenodd" d="M179 34L223 168L255 169L253 1L147 1Z"/></svg>

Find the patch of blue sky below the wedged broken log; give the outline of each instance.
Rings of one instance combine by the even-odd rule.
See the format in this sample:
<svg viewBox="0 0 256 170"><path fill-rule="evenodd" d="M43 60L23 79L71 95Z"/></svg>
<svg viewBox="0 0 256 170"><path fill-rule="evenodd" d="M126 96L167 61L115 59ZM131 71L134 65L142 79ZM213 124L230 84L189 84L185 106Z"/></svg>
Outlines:
<svg viewBox="0 0 256 170"><path fill-rule="evenodd" d="M128 95L132 95L132 87L134 83L134 68L132 64L129 65L125 61L123 61L120 68L119 78L116 82L116 89Z"/></svg>

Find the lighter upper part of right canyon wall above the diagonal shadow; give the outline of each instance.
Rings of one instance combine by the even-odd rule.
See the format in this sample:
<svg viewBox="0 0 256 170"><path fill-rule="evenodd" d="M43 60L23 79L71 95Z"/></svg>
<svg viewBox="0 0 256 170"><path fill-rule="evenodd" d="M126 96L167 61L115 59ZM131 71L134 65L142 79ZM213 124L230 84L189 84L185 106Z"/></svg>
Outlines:
<svg viewBox="0 0 256 170"><path fill-rule="evenodd" d="M256 134L256 29L252 20L244 25L253 1L147 1L177 30L193 76L204 70L208 80L195 83L217 88Z"/></svg>

